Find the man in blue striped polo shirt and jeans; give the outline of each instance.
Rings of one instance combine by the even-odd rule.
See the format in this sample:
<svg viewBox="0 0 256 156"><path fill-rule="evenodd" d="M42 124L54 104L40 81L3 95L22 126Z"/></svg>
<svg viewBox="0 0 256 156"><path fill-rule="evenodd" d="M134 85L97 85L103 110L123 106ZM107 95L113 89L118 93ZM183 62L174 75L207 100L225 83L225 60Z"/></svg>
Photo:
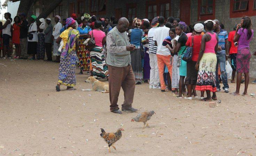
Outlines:
<svg viewBox="0 0 256 156"><path fill-rule="evenodd" d="M220 84L219 84L219 76L218 76L218 69L220 66L220 72L222 76L222 83L223 89L225 93L228 93L228 83L227 83L227 73L226 73L226 61L228 57L228 36L227 31L223 30L219 26L219 20L215 19L214 22L214 32L218 34L219 42L218 42L218 51L217 51L217 65L216 65L216 87L217 91L220 91ZM219 66L218 66L219 65Z"/></svg>

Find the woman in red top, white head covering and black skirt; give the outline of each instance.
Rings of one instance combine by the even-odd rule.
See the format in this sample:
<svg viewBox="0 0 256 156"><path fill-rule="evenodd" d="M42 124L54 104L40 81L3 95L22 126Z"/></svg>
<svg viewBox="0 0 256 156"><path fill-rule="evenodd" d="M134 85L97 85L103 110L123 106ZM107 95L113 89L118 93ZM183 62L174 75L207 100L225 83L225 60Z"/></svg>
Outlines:
<svg viewBox="0 0 256 156"><path fill-rule="evenodd" d="M185 85L187 85L188 96L185 99L192 100L192 89L194 91L194 97L197 98L195 85L197 81L197 73L198 70L195 69L195 65L199 56L199 51L201 49L201 40L202 40L202 31L204 26L201 23L197 23L194 25L195 34L189 36L186 46L193 47L192 49L192 60L187 62L187 77L185 79Z"/></svg>

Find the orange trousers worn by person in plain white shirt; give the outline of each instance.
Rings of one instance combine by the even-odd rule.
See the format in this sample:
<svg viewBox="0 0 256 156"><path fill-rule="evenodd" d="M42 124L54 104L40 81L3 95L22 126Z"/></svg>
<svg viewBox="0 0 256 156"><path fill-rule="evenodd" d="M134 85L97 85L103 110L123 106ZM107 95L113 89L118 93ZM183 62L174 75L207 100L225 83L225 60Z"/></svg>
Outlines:
<svg viewBox="0 0 256 156"><path fill-rule="evenodd" d="M159 69L159 78L160 78L160 83L161 83L161 90L165 90L165 82L164 82L164 64L168 68L168 72L170 73L170 77L172 79L172 65L171 65L171 55L156 55L157 57L157 65Z"/></svg>

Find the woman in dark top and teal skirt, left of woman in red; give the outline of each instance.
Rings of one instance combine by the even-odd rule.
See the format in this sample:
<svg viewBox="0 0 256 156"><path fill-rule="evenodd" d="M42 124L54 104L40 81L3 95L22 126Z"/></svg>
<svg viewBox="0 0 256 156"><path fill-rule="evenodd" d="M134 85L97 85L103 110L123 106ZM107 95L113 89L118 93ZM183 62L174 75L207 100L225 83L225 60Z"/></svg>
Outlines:
<svg viewBox="0 0 256 156"><path fill-rule="evenodd" d="M178 98L182 98L182 94L185 92L184 79L187 75L187 62L182 60L184 53L186 52L186 42L187 35L183 31L183 25L177 24L175 27L176 35L179 35L179 39L177 41L177 46L175 47L175 52L178 52L178 66L179 66L179 96Z"/></svg>

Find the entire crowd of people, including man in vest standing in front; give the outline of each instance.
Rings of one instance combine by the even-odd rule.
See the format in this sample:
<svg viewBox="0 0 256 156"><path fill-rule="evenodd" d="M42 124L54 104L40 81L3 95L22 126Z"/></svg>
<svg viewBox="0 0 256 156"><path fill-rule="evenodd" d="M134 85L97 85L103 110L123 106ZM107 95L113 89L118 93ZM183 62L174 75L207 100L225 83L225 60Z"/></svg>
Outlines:
<svg viewBox="0 0 256 156"><path fill-rule="evenodd" d="M224 92L229 92L228 57L233 69L231 83L235 83L237 73L236 91L231 94L239 95L245 82L242 95L247 95L249 43L254 35L249 17L243 17L229 34L217 19L192 26L173 17L160 16L152 21L134 18L129 23L124 17L97 19L87 13L62 20L56 15L54 26L51 18L37 20L35 15L29 18L29 25L24 13L15 16L13 24L10 13L5 13L5 19L1 24L3 59L11 55L11 38L14 58L32 55L33 60L44 59L46 52L47 61L52 61L53 51L55 62L60 63L56 90L60 91L61 84L74 90L78 65L78 74L90 72L96 79L109 80L110 110L114 113L122 113L117 105L121 87L125 95L122 110L137 110L131 107L135 84L143 82L148 82L150 89L172 91L178 98L217 100L220 82ZM88 44L93 47L88 48Z"/></svg>

